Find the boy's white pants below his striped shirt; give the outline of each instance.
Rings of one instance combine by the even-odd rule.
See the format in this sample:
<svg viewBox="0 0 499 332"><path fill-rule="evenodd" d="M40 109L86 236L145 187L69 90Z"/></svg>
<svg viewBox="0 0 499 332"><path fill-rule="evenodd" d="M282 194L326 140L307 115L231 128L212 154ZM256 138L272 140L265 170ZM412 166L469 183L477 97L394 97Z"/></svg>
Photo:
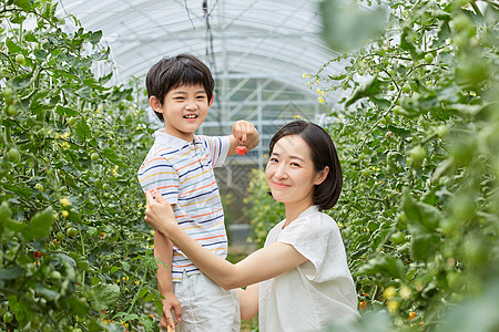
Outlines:
<svg viewBox="0 0 499 332"><path fill-rule="evenodd" d="M238 332L241 313L237 290L224 290L203 273L182 276L173 282L182 308L182 321L176 332Z"/></svg>

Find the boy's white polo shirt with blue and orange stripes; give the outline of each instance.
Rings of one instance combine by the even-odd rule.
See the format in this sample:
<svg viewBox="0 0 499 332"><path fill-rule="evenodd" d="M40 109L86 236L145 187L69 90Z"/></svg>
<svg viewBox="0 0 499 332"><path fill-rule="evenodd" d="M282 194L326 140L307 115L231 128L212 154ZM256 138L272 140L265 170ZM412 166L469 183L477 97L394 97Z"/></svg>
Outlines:
<svg viewBox="0 0 499 332"><path fill-rule="evenodd" d="M139 169L144 191L157 189L174 206L176 221L207 250L225 258L227 235L222 200L213 167L222 166L228 153L228 136L195 135L187 142L164 133L154 133L154 144ZM172 281L182 273L200 273L194 263L174 247Z"/></svg>

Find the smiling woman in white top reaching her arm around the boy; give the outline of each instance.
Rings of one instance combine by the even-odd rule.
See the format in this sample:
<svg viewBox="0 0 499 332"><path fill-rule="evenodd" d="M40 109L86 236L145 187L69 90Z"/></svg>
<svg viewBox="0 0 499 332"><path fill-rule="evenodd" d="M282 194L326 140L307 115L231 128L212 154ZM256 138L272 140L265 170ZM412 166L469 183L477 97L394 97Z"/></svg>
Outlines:
<svg viewBox="0 0 499 332"><path fill-rule="evenodd" d="M328 322L358 317L357 294L330 209L343 176L329 135L295 121L272 138L266 178L285 206L286 219L268 234L264 248L236 264L203 249L175 221L157 191L146 193L145 221L163 232L195 266L225 289L238 290L241 317L258 313L259 331L320 331Z"/></svg>

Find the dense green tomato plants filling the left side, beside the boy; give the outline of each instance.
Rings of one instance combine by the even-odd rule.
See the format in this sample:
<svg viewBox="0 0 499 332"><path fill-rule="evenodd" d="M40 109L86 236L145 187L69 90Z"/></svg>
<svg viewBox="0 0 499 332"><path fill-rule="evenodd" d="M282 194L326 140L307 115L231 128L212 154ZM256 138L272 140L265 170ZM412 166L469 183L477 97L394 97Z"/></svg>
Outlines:
<svg viewBox="0 0 499 332"><path fill-rule="evenodd" d="M0 1L0 330L157 330L141 92L94 75L102 33L57 6Z"/></svg>

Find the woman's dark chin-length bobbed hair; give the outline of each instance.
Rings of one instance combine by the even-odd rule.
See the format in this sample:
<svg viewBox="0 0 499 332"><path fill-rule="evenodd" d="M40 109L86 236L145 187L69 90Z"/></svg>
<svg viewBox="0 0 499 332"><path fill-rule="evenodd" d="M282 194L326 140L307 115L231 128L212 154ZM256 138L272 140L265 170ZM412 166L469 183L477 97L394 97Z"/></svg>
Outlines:
<svg viewBox="0 0 499 332"><path fill-rule="evenodd" d="M323 170L326 166L329 167L326 179L314 188L313 203L319 206L319 210L330 209L338 200L343 187L342 166L330 136L314 123L302 120L294 121L284 125L272 137L269 154L274 151L277 141L288 135L298 135L305 141L310 148L310 157L316 172Z"/></svg>

